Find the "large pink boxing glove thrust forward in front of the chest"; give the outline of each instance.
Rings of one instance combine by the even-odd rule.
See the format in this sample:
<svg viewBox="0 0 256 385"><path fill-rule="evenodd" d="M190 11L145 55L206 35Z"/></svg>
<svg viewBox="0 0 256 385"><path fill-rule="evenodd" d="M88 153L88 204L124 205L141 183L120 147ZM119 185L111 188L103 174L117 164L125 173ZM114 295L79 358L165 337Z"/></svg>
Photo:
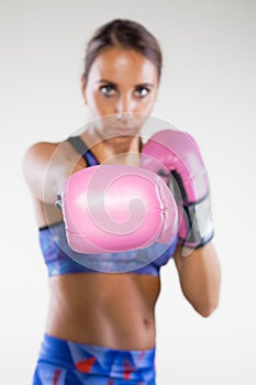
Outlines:
<svg viewBox="0 0 256 385"><path fill-rule="evenodd" d="M62 194L69 246L101 254L169 243L178 231L172 194L151 170L98 165L69 176Z"/></svg>

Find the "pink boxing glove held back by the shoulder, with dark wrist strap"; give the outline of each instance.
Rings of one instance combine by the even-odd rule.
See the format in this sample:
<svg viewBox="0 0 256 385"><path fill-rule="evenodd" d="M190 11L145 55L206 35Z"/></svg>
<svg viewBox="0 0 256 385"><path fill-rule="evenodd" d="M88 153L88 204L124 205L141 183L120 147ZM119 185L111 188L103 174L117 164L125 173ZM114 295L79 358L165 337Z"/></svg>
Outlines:
<svg viewBox="0 0 256 385"><path fill-rule="evenodd" d="M179 210L180 242L189 249L210 242L210 185L194 140L181 131L157 132L142 150L142 167L160 175L172 190Z"/></svg>

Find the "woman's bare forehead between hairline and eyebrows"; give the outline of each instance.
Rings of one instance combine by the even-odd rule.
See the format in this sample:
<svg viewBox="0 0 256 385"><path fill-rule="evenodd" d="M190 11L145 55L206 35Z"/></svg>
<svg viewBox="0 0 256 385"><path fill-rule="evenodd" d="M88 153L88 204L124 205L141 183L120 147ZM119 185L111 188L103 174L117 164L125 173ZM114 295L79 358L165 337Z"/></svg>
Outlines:
<svg viewBox="0 0 256 385"><path fill-rule="evenodd" d="M134 50L110 48L100 53L90 68L89 78L105 79L113 82L129 77L135 84L157 81L157 67L144 55Z"/></svg>

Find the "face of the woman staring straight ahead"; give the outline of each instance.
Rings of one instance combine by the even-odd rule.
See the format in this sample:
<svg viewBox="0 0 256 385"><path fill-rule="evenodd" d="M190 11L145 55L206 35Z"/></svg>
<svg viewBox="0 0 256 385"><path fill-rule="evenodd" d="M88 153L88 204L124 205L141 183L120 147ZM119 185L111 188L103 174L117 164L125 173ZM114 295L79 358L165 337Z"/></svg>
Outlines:
<svg viewBox="0 0 256 385"><path fill-rule="evenodd" d="M110 48L97 56L82 94L98 134L134 135L151 114L158 89L158 72L142 54ZM99 119L102 118L102 119Z"/></svg>

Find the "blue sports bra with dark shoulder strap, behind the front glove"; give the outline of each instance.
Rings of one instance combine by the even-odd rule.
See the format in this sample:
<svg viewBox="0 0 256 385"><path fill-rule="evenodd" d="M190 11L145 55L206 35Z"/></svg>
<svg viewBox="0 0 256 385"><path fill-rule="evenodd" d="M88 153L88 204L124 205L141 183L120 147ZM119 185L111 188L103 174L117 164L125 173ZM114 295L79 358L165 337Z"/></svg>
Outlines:
<svg viewBox="0 0 256 385"><path fill-rule="evenodd" d="M82 155L88 167L99 164L79 136L68 138L68 142ZM98 272L159 275L160 267L174 255L177 242L178 237L167 245L156 242L142 250L91 255L70 249L64 221L40 229L40 244L49 276Z"/></svg>

